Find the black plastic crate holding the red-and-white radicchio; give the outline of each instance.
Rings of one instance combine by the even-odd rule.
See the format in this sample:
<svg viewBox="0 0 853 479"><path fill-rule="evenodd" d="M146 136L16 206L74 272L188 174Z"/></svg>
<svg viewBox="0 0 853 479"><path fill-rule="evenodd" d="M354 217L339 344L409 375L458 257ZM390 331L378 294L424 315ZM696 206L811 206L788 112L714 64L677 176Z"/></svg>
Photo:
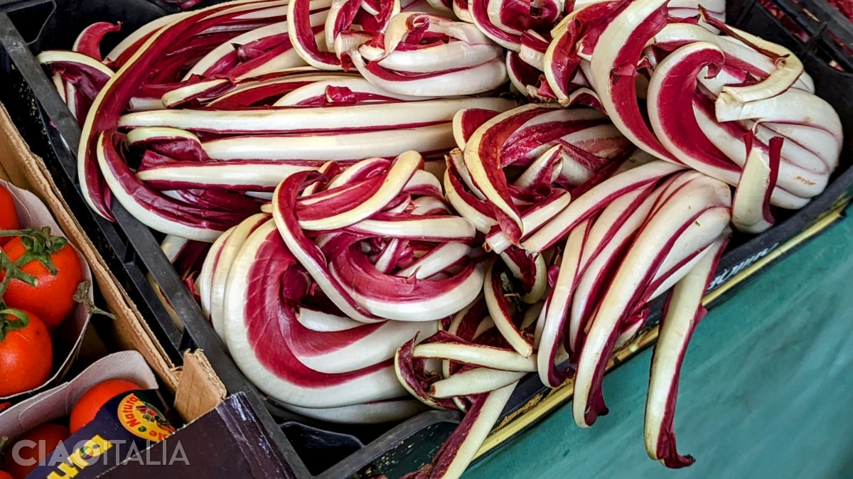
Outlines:
<svg viewBox="0 0 853 479"><path fill-rule="evenodd" d="M798 55L815 79L817 94L836 108L844 124L844 151L833 181L821 196L800 211L779 218L768 232L735 237L722 257L706 306L729 292L840 216L853 196L853 29L838 23L822 0L729 0L728 21L748 32L781 43ZM117 222L103 220L85 205L79 193L75 154L80 136L77 122L34 59L43 49L67 49L86 25L101 20L124 22L122 32L174 11L171 4L148 0L0 0L0 101L9 108L35 153L48 164L68 205L78 216L108 267L148 320L171 361L180 364L184 349L203 349L229 394L245 392L260 424L281 451L291 477L389 477L428 462L459 421L455 412L422 413L402 424L353 427L301 418L266 400L249 383L213 332L212 326L183 281L160 251L161 236L137 222L118 203ZM834 20L833 20L834 19ZM789 29L791 22L797 28ZM105 43L115 43L107 38ZM106 45L107 48L111 45ZM176 325L154 289L150 274L182 320ZM611 366L627 361L657 338L662 300L653 305L647 329L619 351ZM543 387L535 374L516 388L496 430L479 457L536 424L572 396L572 384L556 390ZM247 418L247 420L252 420ZM569 424L566 427L571 427Z"/></svg>

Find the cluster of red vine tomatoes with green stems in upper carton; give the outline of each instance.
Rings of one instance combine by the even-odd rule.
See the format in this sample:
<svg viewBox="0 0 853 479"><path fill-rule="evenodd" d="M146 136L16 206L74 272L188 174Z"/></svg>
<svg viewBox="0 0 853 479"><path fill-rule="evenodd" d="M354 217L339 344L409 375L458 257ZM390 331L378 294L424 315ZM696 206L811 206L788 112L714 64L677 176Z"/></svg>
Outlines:
<svg viewBox="0 0 853 479"><path fill-rule="evenodd" d="M76 306L77 251L49 228L20 229L15 200L0 186L0 397L38 388L53 370L51 332Z"/></svg>

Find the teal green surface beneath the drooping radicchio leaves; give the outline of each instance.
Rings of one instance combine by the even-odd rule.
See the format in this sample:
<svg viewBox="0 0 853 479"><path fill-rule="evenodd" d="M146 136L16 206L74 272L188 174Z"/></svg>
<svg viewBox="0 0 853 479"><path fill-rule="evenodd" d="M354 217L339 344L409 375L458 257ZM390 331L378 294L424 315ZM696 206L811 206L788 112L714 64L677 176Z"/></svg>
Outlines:
<svg viewBox="0 0 853 479"><path fill-rule="evenodd" d="M848 208L847 216L853 216ZM705 316L676 408L681 453L648 459L652 349L608 374L590 429L568 404L467 471L479 478L853 478L853 217L766 269Z"/></svg>

